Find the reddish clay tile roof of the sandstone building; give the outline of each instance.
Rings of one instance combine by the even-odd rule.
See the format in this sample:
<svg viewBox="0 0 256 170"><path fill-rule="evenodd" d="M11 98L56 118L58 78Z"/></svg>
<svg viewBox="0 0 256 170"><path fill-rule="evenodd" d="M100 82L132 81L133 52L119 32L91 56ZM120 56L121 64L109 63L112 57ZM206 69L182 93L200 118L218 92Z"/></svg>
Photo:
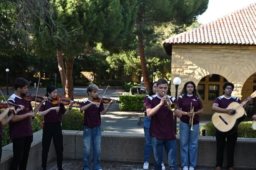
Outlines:
<svg viewBox="0 0 256 170"><path fill-rule="evenodd" d="M163 41L170 44L256 45L256 3Z"/></svg>

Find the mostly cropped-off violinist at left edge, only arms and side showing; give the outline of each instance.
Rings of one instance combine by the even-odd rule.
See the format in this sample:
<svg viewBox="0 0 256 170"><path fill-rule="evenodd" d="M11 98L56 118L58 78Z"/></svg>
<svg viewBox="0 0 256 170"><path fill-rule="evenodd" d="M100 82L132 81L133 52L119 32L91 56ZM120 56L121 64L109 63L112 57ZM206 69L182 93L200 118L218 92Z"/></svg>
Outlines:
<svg viewBox="0 0 256 170"><path fill-rule="evenodd" d="M14 107L7 107L5 108L4 112L0 112L0 162L1 162L1 157L2 157L2 135L3 135L3 129L2 126L5 126L9 121L11 121L11 119L13 118L14 114L10 114L7 118L5 118L5 116L10 112L14 112L16 114L16 112L19 112L20 109L23 109L24 106L20 105L20 108L18 108L17 110L15 110ZM5 119L4 119L5 118Z"/></svg>

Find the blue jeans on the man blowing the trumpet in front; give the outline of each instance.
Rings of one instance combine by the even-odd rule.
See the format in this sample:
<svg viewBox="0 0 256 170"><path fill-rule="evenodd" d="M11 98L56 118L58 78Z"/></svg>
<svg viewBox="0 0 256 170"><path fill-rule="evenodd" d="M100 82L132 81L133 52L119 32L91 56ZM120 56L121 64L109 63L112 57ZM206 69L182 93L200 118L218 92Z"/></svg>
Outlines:
<svg viewBox="0 0 256 170"><path fill-rule="evenodd" d="M162 170L162 152L163 146L167 153L167 160L170 170L178 170L176 165L176 140L161 140L151 136L152 147L154 151L155 170Z"/></svg>

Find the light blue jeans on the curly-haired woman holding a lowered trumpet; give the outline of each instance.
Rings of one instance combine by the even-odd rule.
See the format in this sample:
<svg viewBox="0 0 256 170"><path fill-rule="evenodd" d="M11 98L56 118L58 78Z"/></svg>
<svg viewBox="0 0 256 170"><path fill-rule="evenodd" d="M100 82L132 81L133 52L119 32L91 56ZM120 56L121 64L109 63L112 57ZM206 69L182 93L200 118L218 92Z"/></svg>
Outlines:
<svg viewBox="0 0 256 170"><path fill-rule="evenodd" d="M190 125L180 120L180 159L181 166L196 167L199 123L193 125L194 131L190 131Z"/></svg>

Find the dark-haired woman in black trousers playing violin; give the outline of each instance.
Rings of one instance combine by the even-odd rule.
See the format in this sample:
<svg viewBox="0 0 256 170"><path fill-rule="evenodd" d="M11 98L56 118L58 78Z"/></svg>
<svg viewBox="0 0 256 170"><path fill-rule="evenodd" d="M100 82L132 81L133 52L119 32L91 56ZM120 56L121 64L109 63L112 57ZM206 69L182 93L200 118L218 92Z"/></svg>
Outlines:
<svg viewBox="0 0 256 170"><path fill-rule="evenodd" d="M67 110L63 104L59 104L58 106L52 105L52 99L55 99L57 96L57 88L53 85L46 88L45 96L48 97L48 100L44 102L39 110L39 116L44 116L42 168L46 170L48 152L53 139L57 156L57 167L58 170L62 170L63 136L61 130L61 116L68 115L74 102L70 100L70 105Z"/></svg>

